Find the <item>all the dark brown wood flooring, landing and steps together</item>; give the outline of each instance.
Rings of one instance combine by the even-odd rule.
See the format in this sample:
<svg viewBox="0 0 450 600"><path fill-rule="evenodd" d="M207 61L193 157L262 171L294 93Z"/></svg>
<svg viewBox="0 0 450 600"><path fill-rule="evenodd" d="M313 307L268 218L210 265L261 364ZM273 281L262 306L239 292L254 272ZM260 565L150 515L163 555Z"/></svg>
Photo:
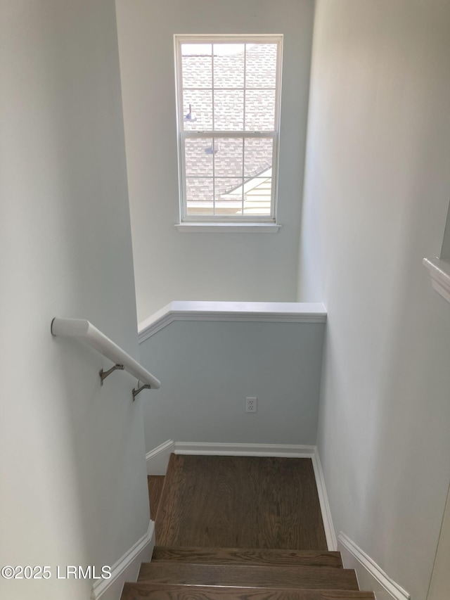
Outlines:
<svg viewBox="0 0 450 600"><path fill-rule="evenodd" d="M172 454L148 492L158 545L122 600L375 600L327 550L311 459Z"/></svg>

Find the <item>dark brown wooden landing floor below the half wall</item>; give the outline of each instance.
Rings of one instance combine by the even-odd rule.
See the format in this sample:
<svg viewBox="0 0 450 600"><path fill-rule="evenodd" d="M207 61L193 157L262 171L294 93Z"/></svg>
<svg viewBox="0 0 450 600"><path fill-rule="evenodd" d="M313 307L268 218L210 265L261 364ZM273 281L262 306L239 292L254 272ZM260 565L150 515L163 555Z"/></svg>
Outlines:
<svg viewBox="0 0 450 600"><path fill-rule="evenodd" d="M311 459L172 454L157 544L326 550Z"/></svg>

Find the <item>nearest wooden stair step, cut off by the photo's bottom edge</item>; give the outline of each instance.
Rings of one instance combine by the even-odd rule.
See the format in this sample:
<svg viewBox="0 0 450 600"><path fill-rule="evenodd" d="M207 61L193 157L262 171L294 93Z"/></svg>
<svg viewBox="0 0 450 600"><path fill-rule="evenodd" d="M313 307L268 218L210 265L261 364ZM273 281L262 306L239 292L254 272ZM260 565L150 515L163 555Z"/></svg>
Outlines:
<svg viewBox="0 0 450 600"><path fill-rule="evenodd" d="M126 583L122 600L375 600L373 592Z"/></svg>

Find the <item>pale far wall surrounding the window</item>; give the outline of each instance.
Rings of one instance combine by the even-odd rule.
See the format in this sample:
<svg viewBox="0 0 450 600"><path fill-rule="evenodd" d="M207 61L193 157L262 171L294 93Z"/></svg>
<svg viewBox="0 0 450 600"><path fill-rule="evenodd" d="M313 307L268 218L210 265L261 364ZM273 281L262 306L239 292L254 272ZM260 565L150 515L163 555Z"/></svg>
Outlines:
<svg viewBox="0 0 450 600"><path fill-rule="evenodd" d="M312 0L117 0L139 321L172 300L296 295ZM173 36L283 33L278 234L181 234Z"/></svg>

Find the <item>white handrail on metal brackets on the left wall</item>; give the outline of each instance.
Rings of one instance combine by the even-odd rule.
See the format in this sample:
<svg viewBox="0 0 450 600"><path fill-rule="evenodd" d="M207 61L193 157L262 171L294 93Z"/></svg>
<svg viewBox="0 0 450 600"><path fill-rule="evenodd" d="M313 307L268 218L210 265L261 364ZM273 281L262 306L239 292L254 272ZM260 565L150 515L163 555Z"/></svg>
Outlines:
<svg viewBox="0 0 450 600"><path fill-rule="evenodd" d="M154 377L147 369L144 369L139 362L86 319L60 319L55 317L51 321L51 333L53 336L68 336L79 339L115 364L123 365L124 370L137 377L139 381L157 390L160 388L161 382L159 379Z"/></svg>

